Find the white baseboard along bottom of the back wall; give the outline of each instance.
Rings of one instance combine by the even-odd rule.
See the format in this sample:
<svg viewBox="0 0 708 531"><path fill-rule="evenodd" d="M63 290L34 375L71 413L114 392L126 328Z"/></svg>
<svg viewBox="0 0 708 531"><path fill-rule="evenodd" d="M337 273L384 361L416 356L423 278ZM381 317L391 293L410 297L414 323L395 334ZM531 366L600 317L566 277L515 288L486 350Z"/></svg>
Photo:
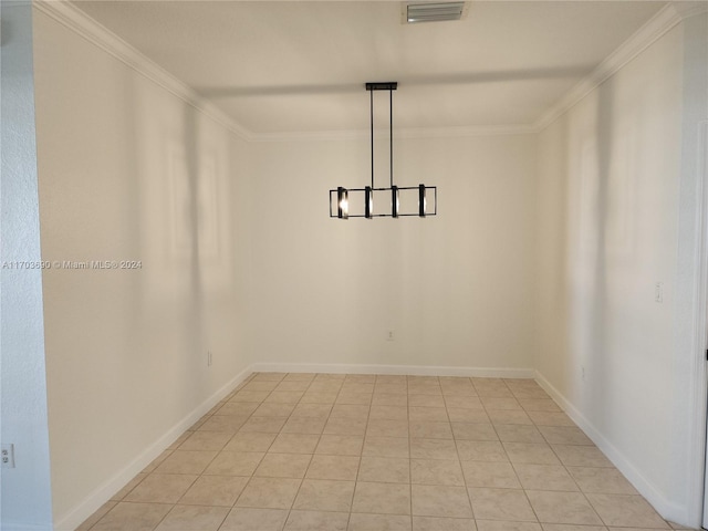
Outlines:
<svg viewBox="0 0 708 531"><path fill-rule="evenodd" d="M330 373L330 374L399 374L410 376L466 376L482 378L533 378L532 368L450 367L429 365L358 365L339 363L254 363L258 373Z"/></svg>

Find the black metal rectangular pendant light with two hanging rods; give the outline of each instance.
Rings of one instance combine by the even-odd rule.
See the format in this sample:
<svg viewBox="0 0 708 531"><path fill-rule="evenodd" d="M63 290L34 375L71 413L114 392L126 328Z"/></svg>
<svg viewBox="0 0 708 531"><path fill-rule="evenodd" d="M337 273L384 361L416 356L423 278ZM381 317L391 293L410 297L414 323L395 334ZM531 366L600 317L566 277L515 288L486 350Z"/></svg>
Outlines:
<svg viewBox="0 0 708 531"><path fill-rule="evenodd" d="M393 91L398 87L398 83L393 82L375 82L366 83L366 90L369 92L369 118L371 118L371 148L372 148L372 184L364 188L344 188L337 187L330 190L330 217L339 219L348 218L400 218L417 216L425 218L428 216L437 216L438 207L438 189L436 186L395 186L394 185L394 96ZM388 91L388 127L389 127L389 179L391 186L388 188L374 187L374 91ZM400 190L418 190L418 211L417 212L402 212L399 209L399 192ZM428 211L428 190L433 192L430 199L433 204L433 210ZM363 191L364 192L364 214L350 215L348 212L348 192L350 191ZM391 211L389 214L374 214L373 200L375 191L388 191L391 195ZM334 204L333 199L336 199L336 211L332 208Z"/></svg>

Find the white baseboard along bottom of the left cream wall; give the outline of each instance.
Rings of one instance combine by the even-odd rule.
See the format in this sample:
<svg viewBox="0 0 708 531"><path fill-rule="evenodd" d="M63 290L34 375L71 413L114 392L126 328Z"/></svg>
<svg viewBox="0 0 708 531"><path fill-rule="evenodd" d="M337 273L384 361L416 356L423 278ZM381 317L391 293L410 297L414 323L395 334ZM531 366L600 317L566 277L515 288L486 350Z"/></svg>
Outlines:
<svg viewBox="0 0 708 531"><path fill-rule="evenodd" d="M157 458L166 448L169 447L181 434L199 420L206 413L216 406L223 397L226 397L237 385L243 382L251 373L252 367L247 367L238 375L231 378L226 385L214 393L209 398L197 406L189 415L178 421L175 426L165 433L162 437L149 445L135 460L133 460L123 470L116 473L108 481L98 487L91 496L82 501L74 509L56 519L54 524L55 531L73 531L81 525L88 517L97 511L101 506L111 499L117 491L125 487L137 473L147 467L155 458ZM4 524L3 524L4 531ZM40 528L17 528L17 531L34 530ZM44 528L42 528L44 529ZM14 528L8 528L8 531L14 531Z"/></svg>

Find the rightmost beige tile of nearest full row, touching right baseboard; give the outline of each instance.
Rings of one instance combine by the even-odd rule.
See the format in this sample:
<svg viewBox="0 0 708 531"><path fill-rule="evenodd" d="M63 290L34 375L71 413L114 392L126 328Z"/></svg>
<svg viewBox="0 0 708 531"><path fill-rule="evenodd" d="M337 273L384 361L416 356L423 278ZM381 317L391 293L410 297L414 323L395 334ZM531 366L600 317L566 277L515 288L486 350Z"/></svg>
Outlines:
<svg viewBox="0 0 708 531"><path fill-rule="evenodd" d="M641 496L585 494L605 525L670 529Z"/></svg>

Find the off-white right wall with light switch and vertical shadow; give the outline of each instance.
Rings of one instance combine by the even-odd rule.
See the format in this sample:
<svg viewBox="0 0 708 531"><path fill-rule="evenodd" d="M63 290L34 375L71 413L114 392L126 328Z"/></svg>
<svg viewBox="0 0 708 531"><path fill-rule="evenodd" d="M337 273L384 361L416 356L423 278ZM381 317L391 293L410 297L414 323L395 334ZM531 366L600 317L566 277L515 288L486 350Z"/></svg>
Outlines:
<svg viewBox="0 0 708 531"><path fill-rule="evenodd" d="M677 332L698 296L700 20L686 67L702 79L686 82L680 23L541 133L538 171L538 373L664 517L691 525L701 348Z"/></svg>

